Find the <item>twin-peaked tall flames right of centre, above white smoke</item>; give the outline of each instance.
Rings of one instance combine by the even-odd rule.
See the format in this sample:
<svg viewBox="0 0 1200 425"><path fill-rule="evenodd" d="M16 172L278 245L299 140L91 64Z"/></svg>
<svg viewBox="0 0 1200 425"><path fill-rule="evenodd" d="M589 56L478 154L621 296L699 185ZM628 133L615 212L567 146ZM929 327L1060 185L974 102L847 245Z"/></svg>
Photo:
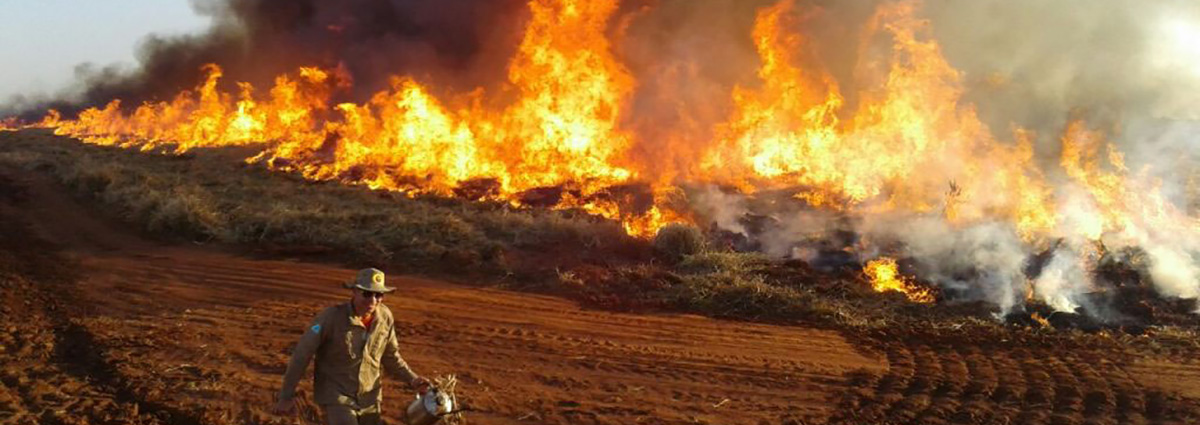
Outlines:
<svg viewBox="0 0 1200 425"><path fill-rule="evenodd" d="M875 89L858 94L853 113L842 109L828 74L794 65L794 53L805 49L782 24L791 7L782 1L760 12L754 37L762 86L734 90L734 115L719 126L722 139L706 161L720 180L803 186L798 197L815 206L941 210L952 221L1002 215L1026 235L1052 226L1049 188L1032 164L1028 134L998 143L972 109L958 107L959 73L928 41L913 2L886 5L866 25L863 40L883 32L894 55L883 76L874 62L860 65L860 78L881 83L862 84ZM1004 190L971 198L977 187Z"/></svg>

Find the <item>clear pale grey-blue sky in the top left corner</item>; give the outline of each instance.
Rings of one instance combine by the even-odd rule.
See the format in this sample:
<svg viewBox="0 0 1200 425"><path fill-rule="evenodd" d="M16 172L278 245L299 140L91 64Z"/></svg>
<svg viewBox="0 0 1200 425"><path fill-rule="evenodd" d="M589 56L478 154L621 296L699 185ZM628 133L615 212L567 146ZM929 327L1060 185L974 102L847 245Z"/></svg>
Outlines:
<svg viewBox="0 0 1200 425"><path fill-rule="evenodd" d="M59 91L82 62L132 67L144 36L208 24L187 0L0 0L0 104Z"/></svg>

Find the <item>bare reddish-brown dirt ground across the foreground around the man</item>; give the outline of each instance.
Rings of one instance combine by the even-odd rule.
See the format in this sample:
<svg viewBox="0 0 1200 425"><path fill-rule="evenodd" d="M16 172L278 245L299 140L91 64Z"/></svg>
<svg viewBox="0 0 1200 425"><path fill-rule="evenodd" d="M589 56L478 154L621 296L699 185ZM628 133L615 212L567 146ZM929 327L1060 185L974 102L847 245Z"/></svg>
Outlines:
<svg viewBox="0 0 1200 425"><path fill-rule="evenodd" d="M290 347L354 271L148 241L0 169L0 424L314 424L268 413ZM1194 353L876 341L581 309L392 276L402 353L469 424L1188 424ZM311 393L308 383L301 388ZM397 423L409 395L385 389Z"/></svg>

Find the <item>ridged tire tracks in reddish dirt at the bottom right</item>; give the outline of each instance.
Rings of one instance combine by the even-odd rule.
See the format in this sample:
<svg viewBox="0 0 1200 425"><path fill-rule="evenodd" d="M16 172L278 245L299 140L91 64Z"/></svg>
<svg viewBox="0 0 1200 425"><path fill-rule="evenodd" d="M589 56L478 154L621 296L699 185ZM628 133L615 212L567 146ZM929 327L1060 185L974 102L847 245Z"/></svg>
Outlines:
<svg viewBox="0 0 1200 425"><path fill-rule="evenodd" d="M1196 399L1169 394L1134 366L1086 348L898 342L884 373L859 372L840 424L1192 424ZM1184 367L1183 382L1200 369ZM1152 378L1150 378L1152 379Z"/></svg>

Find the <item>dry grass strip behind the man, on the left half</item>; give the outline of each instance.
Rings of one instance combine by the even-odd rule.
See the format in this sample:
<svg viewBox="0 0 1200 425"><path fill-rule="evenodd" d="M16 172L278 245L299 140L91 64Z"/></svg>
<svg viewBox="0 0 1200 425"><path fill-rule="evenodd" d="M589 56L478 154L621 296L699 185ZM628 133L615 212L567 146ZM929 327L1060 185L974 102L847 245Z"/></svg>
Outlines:
<svg viewBox="0 0 1200 425"><path fill-rule="evenodd" d="M628 244L617 223L564 211L372 191L244 164L247 150L184 156L80 144L44 132L5 133L0 161L40 169L163 238L322 249L346 261L409 270L509 273L515 250Z"/></svg>

